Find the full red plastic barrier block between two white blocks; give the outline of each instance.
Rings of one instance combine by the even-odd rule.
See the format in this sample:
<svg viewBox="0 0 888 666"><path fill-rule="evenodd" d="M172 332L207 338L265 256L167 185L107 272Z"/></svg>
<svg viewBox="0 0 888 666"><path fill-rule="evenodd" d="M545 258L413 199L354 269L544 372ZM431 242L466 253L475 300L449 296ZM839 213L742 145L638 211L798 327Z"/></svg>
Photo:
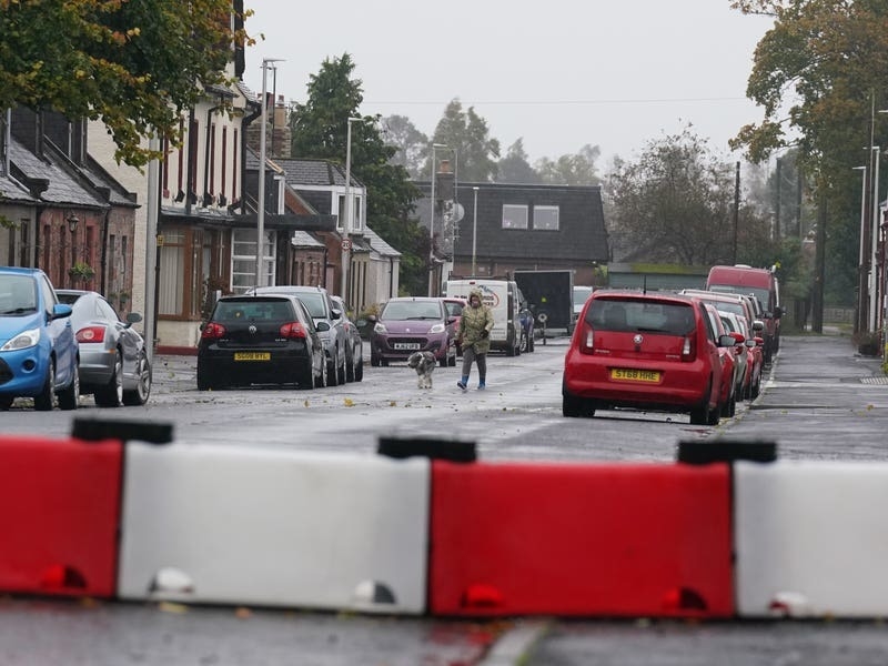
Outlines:
<svg viewBox="0 0 888 666"><path fill-rule="evenodd" d="M434 615L729 617L725 463L432 467Z"/></svg>

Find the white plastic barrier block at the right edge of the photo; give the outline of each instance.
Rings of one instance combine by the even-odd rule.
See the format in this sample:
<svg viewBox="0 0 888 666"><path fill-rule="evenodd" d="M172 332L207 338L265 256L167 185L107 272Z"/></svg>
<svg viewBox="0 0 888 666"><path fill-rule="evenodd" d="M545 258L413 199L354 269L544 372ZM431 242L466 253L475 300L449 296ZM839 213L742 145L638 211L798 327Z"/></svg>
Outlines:
<svg viewBox="0 0 888 666"><path fill-rule="evenodd" d="M888 615L888 463L734 466L737 613Z"/></svg>

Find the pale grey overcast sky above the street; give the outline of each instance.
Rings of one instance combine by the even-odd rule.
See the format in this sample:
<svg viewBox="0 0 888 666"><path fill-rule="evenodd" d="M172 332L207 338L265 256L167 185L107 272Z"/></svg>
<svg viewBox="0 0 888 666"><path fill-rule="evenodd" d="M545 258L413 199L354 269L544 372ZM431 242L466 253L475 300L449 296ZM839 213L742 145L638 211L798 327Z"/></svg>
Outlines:
<svg viewBox="0 0 888 666"><path fill-rule="evenodd" d="M362 114L405 115L431 137L446 104L474 107L503 154L529 161L599 145L633 159L690 123L718 153L761 112L745 97L756 43L770 28L729 0L246 0L264 41L244 80L304 102L311 74L347 52ZM737 157L737 155L734 155Z"/></svg>

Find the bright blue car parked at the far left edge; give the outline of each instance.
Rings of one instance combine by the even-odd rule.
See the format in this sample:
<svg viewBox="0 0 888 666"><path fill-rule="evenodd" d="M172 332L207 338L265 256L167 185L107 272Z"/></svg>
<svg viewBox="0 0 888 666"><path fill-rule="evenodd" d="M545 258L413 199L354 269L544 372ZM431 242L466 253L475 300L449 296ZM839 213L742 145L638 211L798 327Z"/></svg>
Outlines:
<svg viewBox="0 0 888 666"><path fill-rule="evenodd" d="M0 410L17 397L34 408L75 410L78 343L71 306L62 305L39 269L0 266Z"/></svg>

